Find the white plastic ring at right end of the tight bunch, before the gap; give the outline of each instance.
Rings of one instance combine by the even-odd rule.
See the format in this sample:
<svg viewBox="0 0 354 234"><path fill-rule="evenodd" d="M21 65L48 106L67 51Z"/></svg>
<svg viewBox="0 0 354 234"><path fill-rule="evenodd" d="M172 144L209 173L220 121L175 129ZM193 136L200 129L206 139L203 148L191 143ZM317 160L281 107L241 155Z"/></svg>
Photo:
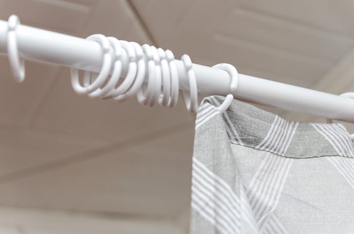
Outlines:
<svg viewBox="0 0 354 234"><path fill-rule="evenodd" d="M171 98L168 102L168 107L174 108L178 102L178 94L179 94L179 80L178 80L178 72L177 66L175 63L175 56L170 50L165 51L166 59L168 61L168 65L170 67L170 77L171 77Z"/></svg>

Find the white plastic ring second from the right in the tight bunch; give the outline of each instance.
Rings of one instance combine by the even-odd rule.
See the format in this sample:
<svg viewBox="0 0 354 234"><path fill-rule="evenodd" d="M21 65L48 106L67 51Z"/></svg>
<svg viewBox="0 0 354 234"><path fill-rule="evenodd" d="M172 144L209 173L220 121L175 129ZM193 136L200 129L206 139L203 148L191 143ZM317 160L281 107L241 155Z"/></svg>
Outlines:
<svg viewBox="0 0 354 234"><path fill-rule="evenodd" d="M165 51L161 48L157 49L158 55L161 61L161 74L162 74L162 93L159 96L158 103L162 107L167 107L171 99L171 76L170 67L166 60Z"/></svg>

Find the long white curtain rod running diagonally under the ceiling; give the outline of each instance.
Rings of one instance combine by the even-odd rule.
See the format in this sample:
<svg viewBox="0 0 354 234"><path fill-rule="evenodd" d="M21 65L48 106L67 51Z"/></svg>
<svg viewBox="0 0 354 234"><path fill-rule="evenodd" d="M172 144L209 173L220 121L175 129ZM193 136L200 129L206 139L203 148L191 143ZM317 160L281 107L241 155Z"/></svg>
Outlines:
<svg viewBox="0 0 354 234"><path fill-rule="evenodd" d="M7 32L7 21L0 20L0 53L3 54L7 53ZM99 72L102 64L102 50L95 41L25 25L17 26L16 37L19 54L25 59L92 72ZM125 51L122 52L122 77L125 77L128 58ZM175 62L180 89L188 90L188 76L183 62L177 59ZM354 123L354 100L347 97L244 74L239 74L237 89L231 92L228 72L199 64L193 64L193 70L199 93L223 96L232 93L239 100L255 104Z"/></svg>

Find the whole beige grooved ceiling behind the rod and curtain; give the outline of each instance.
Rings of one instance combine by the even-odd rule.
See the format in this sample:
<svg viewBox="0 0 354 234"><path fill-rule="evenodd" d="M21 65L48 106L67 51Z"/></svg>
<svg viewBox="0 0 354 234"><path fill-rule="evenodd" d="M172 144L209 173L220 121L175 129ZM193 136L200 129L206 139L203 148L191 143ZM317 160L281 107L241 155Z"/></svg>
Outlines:
<svg viewBox="0 0 354 234"><path fill-rule="evenodd" d="M354 89L353 9L353 1L332 0L0 0L4 20L17 14L65 34L154 44L195 63L227 62L334 93ZM188 230L195 117L182 100L174 109L92 100L74 93L68 68L27 61L20 85L6 55L0 68L0 206Z"/></svg>

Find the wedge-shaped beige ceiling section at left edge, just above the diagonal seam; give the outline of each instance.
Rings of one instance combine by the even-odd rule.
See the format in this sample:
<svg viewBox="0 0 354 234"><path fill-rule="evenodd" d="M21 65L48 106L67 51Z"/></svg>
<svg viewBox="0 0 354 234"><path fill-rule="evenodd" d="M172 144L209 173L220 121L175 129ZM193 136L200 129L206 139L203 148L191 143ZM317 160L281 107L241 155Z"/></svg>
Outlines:
<svg viewBox="0 0 354 234"><path fill-rule="evenodd" d="M105 145L96 139L0 125L0 180L31 174L45 165Z"/></svg>

